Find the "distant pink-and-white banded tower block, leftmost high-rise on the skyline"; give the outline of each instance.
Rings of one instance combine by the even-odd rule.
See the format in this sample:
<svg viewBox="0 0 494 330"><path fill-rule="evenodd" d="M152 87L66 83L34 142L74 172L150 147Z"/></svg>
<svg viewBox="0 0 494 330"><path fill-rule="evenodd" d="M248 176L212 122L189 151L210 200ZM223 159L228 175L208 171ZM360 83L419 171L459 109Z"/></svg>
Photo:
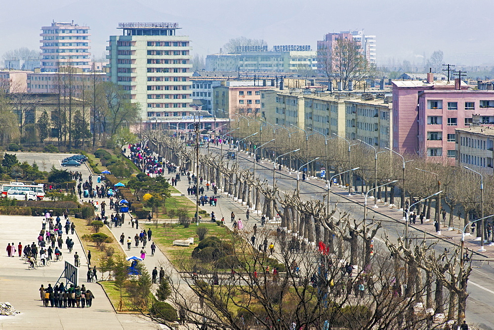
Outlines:
<svg viewBox="0 0 494 330"><path fill-rule="evenodd" d="M41 72L57 72L61 66L74 66L89 71L89 27L53 22L41 27Z"/></svg>

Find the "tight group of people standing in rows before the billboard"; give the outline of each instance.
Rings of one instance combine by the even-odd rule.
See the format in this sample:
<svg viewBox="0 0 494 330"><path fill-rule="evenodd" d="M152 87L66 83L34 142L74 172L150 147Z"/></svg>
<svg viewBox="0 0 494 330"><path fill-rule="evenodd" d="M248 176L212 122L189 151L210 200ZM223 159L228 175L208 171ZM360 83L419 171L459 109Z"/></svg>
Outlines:
<svg viewBox="0 0 494 330"><path fill-rule="evenodd" d="M71 284L68 288L63 283L56 284L54 287L48 284L48 287L41 285L40 297L44 307L58 308L84 308L91 307L94 294L91 290L86 289L84 285L74 286Z"/></svg>

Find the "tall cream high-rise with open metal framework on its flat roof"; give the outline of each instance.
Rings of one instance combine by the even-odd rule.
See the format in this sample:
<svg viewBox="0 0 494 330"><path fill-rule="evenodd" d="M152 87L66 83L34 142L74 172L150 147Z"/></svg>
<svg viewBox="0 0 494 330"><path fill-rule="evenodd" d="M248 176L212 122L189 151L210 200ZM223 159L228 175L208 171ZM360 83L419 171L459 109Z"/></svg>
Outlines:
<svg viewBox="0 0 494 330"><path fill-rule="evenodd" d="M119 23L119 29L123 35L110 36L107 47L111 81L141 104L142 120L151 123L171 111L188 111L192 47L187 36L176 35L178 24Z"/></svg>

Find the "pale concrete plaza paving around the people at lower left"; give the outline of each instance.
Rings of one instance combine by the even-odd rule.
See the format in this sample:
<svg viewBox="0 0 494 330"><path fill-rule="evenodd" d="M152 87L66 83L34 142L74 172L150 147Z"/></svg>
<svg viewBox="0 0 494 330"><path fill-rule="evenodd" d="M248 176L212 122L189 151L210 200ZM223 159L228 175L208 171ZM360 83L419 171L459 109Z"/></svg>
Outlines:
<svg viewBox="0 0 494 330"><path fill-rule="evenodd" d="M2 231L0 245L22 242L23 247L36 242L41 230L41 217L0 215ZM65 232L65 231L64 231ZM70 233L70 232L69 232ZM62 237L66 237L63 235ZM21 312L15 316L0 317L1 329L157 329L156 325L137 315L116 314L100 285L86 283L85 270L87 260L76 234L69 237L74 240L72 253L63 245L64 260L74 262L77 251L82 260L79 270L80 284L90 289L95 298L91 308L51 308L43 307L39 288L48 283L55 285L62 274L65 262L52 262L50 266L29 270L27 264L18 256L7 257L6 251L0 254L0 301L8 301ZM16 253L16 255L18 255ZM62 279L62 281L64 281ZM65 281L64 281L65 283Z"/></svg>

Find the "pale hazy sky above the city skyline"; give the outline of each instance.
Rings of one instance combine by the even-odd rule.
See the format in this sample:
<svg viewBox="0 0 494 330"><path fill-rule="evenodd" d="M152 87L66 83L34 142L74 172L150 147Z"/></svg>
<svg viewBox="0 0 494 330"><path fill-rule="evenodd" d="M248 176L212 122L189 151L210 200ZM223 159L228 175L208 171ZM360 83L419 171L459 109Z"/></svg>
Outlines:
<svg viewBox="0 0 494 330"><path fill-rule="evenodd" d="M494 65L492 0L3 0L0 55L39 49L40 28L52 20L90 27L92 53L101 57L119 22L178 22L193 52L215 53L230 38L316 48L328 32L364 29L375 35L377 61L422 62L434 50L451 64Z"/></svg>

